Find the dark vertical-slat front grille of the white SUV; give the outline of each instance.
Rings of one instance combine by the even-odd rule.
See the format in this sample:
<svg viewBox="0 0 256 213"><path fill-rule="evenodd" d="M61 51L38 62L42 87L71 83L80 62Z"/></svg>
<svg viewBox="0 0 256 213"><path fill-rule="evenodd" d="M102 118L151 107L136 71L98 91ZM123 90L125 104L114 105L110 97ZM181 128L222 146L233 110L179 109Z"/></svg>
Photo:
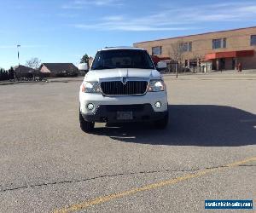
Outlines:
<svg viewBox="0 0 256 213"><path fill-rule="evenodd" d="M147 86L147 81L128 81L125 84L121 81L101 83L104 95L143 95Z"/></svg>

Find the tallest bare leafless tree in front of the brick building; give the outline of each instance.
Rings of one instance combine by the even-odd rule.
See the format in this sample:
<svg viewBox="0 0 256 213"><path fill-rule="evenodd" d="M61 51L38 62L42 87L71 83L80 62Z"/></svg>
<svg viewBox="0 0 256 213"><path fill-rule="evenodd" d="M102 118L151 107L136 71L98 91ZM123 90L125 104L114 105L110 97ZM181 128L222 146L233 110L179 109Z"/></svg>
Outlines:
<svg viewBox="0 0 256 213"><path fill-rule="evenodd" d="M183 40L178 40L177 43L172 43L171 48L169 49L169 56L172 60L175 61L175 71L177 76L177 66L182 65L183 55L185 53L185 43Z"/></svg>

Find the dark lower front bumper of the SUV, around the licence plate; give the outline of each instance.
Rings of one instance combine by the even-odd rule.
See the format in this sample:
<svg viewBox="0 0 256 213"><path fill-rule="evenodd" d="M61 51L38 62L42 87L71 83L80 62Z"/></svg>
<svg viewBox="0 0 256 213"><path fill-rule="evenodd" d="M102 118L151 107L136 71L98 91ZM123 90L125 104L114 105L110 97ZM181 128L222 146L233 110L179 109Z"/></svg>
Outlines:
<svg viewBox="0 0 256 213"><path fill-rule="evenodd" d="M117 119L117 112L132 112L132 119L122 120ZM165 118L168 111L154 112L151 104L136 104L136 105L101 105L96 108L93 114L83 114L82 116L89 122L140 122L154 121Z"/></svg>

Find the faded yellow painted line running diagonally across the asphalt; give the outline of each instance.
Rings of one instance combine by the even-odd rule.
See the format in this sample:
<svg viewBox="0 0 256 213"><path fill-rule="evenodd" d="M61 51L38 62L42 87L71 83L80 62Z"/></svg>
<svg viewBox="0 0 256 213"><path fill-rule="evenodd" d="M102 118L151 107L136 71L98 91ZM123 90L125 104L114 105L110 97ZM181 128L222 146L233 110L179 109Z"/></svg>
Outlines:
<svg viewBox="0 0 256 213"><path fill-rule="evenodd" d="M170 180L166 180L166 181L159 181L159 182L155 182L149 185L146 185L144 187L136 187L136 188L131 188L130 190L124 191L124 192L120 192L120 193L113 193L113 194L109 194L106 196L102 196L102 197L98 197L96 199L90 199L89 201L84 201L82 203L79 204L72 204L70 206L61 208L59 210L54 210L54 213L67 213L67 212L73 212L73 211L77 211L77 210L84 210L89 208L92 205L96 205L96 204L103 204L106 203L110 200L113 199L119 199L128 195L132 195L135 193L139 193L139 192L143 192L143 191L148 191L151 189L155 189L155 188L159 188L159 187L165 187L168 185L173 185L177 182L180 181L186 181L195 177L200 177L200 176L204 176L210 172L213 172L215 170L224 170L224 168L230 168L230 167L236 167L239 166L241 164L246 164L248 162L252 162L252 161L256 161L256 157L253 158L247 158L238 162L234 162L232 164L227 164L224 165L222 167L217 167L217 168L213 168L213 169L206 169L206 170L201 170L199 172L196 172L194 174L189 174L189 175L185 175L185 176L179 176L177 178L173 178Z"/></svg>

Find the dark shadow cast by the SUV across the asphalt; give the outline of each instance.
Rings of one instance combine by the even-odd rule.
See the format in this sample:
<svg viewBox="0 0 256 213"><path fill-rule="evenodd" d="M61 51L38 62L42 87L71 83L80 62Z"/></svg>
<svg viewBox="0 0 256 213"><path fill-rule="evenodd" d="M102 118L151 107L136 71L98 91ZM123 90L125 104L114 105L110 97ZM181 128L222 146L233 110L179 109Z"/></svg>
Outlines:
<svg viewBox="0 0 256 213"><path fill-rule="evenodd" d="M256 143L256 115L234 107L172 105L166 130L150 124L108 124L93 134L114 140L170 146L239 147Z"/></svg>

